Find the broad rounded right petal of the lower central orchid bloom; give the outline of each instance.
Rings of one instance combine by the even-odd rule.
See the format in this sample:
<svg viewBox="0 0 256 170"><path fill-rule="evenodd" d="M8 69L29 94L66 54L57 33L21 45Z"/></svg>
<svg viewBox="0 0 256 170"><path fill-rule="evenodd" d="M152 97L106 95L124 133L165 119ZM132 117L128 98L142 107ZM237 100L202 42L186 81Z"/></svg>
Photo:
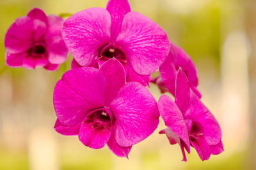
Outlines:
<svg viewBox="0 0 256 170"><path fill-rule="evenodd" d="M116 142L123 147L143 141L159 123L155 98L139 82L128 82L111 102Z"/></svg>

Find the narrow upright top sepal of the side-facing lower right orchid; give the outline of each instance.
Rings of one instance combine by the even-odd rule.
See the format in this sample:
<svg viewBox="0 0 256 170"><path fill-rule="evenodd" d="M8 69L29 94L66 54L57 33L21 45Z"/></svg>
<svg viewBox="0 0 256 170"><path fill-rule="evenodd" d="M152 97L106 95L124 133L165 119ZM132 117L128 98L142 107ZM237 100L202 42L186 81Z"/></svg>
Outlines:
<svg viewBox="0 0 256 170"><path fill-rule="evenodd" d="M189 84L186 74L179 68L176 75L175 104L182 114L186 112L189 105Z"/></svg>

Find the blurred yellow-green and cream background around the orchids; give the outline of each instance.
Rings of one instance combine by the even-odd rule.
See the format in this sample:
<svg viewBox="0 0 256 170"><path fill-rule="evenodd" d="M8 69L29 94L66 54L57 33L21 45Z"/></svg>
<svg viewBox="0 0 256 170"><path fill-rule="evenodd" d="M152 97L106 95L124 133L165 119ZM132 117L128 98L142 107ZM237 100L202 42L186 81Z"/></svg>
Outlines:
<svg viewBox="0 0 256 170"><path fill-rule="evenodd" d="M225 151L202 162L191 150L182 162L161 120L157 130L132 147L129 160L108 147L92 150L77 136L54 131L52 92L70 69L72 56L57 72L3 68L4 35L33 7L47 15L104 8L107 0L0 1L0 169L256 169L256 1L131 0L132 10L159 24L188 52L199 73L202 101L219 121ZM151 84L156 100L161 95Z"/></svg>

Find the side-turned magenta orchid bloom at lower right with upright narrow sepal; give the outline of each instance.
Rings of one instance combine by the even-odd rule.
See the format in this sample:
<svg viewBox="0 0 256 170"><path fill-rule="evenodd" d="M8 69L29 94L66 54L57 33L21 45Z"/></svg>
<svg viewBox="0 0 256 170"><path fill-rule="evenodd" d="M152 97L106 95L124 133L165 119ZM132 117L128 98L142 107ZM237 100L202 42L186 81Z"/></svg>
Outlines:
<svg viewBox="0 0 256 170"><path fill-rule="evenodd" d="M220 125L189 88L182 68L177 72L175 102L162 95L158 108L167 127L159 133L166 134L170 144L179 143L184 161L187 160L184 148L189 153L189 146L195 148L202 160L223 151Z"/></svg>

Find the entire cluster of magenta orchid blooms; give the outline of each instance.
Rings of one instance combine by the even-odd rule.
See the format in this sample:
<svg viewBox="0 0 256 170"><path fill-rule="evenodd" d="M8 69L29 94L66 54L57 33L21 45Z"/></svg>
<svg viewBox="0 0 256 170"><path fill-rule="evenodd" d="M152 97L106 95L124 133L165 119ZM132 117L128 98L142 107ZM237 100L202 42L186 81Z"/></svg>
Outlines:
<svg viewBox="0 0 256 170"><path fill-rule="evenodd" d="M196 66L154 21L132 12L127 0L109 0L67 20L35 8L10 26L6 65L56 70L72 54L72 68L56 83L54 129L78 135L93 149L106 144L127 157L156 130L159 116L170 144L195 148L202 160L223 151L220 125L200 101ZM160 75L151 79L159 69ZM146 88L157 84L158 104Z"/></svg>

